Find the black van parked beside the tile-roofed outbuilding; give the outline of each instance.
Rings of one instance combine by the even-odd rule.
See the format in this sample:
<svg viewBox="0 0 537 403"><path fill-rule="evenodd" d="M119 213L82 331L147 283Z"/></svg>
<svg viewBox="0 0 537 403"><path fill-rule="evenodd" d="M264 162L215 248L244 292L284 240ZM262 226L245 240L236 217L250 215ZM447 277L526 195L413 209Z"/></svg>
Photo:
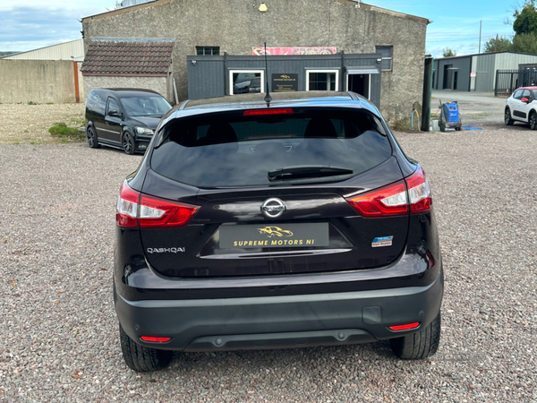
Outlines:
<svg viewBox="0 0 537 403"><path fill-rule="evenodd" d="M171 109L158 92L141 89L95 89L86 101L86 136L92 149L101 145L144 152L160 118Z"/></svg>

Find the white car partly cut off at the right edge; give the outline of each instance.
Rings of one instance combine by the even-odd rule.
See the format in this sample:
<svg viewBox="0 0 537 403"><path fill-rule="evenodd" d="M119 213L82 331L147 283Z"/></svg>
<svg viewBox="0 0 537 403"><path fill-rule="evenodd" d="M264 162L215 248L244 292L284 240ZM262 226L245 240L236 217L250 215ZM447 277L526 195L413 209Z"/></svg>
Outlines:
<svg viewBox="0 0 537 403"><path fill-rule="evenodd" d="M507 99L505 123L515 122L530 124L530 129L537 129L537 87L521 87Z"/></svg>

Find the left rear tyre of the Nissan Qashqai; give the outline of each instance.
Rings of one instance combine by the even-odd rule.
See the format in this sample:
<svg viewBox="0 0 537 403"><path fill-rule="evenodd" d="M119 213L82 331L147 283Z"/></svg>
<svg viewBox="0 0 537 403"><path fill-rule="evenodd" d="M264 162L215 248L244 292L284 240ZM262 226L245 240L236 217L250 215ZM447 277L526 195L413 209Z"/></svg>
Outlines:
<svg viewBox="0 0 537 403"><path fill-rule="evenodd" d="M149 373L166 368L174 355L174 352L170 350L158 350L139 345L127 336L121 325L119 326L119 339L125 363L133 371L139 373Z"/></svg>

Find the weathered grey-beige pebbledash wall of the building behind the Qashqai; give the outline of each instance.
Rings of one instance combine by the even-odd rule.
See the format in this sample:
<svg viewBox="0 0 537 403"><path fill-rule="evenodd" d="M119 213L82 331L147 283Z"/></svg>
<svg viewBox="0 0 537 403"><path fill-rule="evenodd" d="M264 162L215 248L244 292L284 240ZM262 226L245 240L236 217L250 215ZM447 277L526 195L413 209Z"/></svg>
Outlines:
<svg viewBox="0 0 537 403"><path fill-rule="evenodd" d="M267 11L260 12L265 4ZM175 38L173 69L178 99L188 97L187 56L219 47L251 56L252 47L337 47L375 54L392 47L382 71L380 110L390 124L422 104L425 36L430 21L351 0L158 0L82 19L85 48L94 37ZM210 77L208 77L210 80Z"/></svg>

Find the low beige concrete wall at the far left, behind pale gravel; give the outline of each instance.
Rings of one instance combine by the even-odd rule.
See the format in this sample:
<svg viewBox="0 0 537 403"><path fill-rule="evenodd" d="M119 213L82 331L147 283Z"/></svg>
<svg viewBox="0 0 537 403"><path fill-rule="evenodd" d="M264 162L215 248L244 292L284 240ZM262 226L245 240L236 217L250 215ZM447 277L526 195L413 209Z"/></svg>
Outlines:
<svg viewBox="0 0 537 403"><path fill-rule="evenodd" d="M81 77L80 64L78 67ZM0 102L30 101L39 104L75 102L72 61L0 60Z"/></svg>

